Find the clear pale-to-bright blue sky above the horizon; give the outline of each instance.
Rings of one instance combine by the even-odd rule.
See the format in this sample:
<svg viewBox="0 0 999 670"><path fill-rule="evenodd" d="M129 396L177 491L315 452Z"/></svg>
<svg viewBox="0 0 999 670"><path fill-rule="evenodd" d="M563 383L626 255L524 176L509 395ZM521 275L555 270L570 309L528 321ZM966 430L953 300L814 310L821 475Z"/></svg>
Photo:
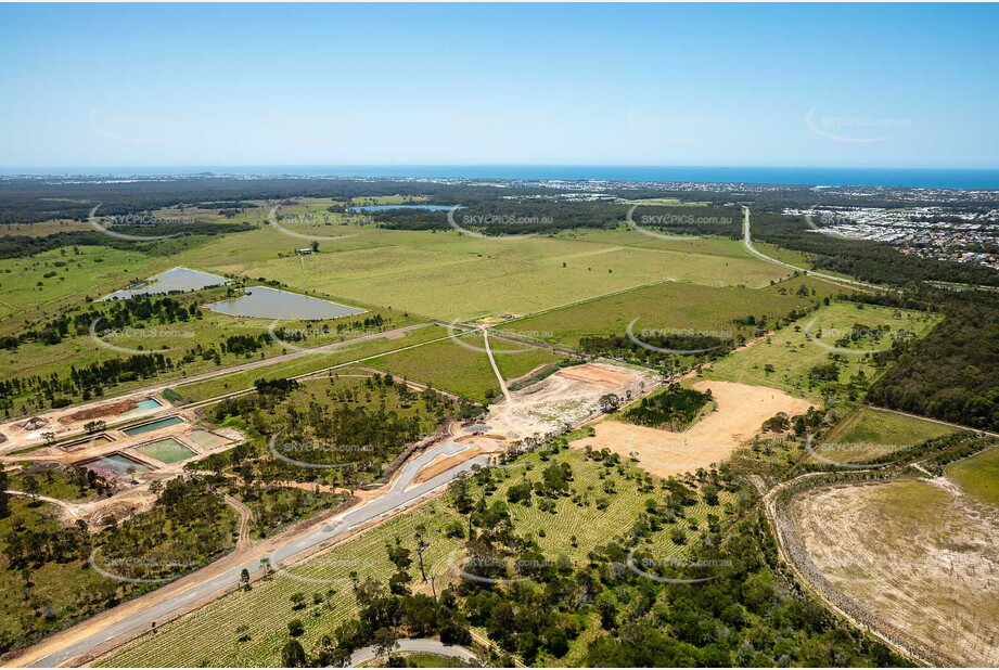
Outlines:
<svg viewBox="0 0 999 670"><path fill-rule="evenodd" d="M999 167L997 5L0 5L0 167Z"/></svg>

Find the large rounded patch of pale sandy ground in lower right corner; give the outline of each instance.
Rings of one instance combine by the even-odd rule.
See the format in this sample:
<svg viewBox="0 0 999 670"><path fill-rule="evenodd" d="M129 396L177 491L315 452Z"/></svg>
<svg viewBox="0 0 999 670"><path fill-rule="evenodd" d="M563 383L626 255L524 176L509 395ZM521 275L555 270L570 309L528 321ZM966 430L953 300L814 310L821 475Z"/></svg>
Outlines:
<svg viewBox="0 0 999 670"><path fill-rule="evenodd" d="M822 488L793 503L808 558L947 665L999 665L999 510L945 480ZM891 632L889 629L889 632Z"/></svg>

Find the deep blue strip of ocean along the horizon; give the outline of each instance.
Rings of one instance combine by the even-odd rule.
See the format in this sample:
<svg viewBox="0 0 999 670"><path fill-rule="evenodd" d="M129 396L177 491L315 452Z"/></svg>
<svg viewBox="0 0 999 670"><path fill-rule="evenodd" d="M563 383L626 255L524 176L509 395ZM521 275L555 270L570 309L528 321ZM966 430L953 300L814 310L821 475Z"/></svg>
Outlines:
<svg viewBox="0 0 999 670"><path fill-rule="evenodd" d="M259 165L0 168L0 175L149 177L154 175L284 175L303 177L415 177L468 179L563 179L802 184L812 186L909 186L999 189L999 169L682 167L598 165Z"/></svg>

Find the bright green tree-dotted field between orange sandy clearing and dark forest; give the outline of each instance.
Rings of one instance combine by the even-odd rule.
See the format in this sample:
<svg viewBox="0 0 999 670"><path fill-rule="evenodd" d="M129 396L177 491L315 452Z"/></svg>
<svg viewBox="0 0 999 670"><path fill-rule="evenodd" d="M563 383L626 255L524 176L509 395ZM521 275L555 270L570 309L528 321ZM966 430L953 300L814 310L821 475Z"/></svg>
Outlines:
<svg viewBox="0 0 999 670"><path fill-rule="evenodd" d="M818 398L820 382L810 373L817 365L829 364L833 356L843 359L835 378L836 385L857 383L861 387L878 378L867 351L891 347L892 337L900 331L922 337L936 325L939 317L925 312L875 307L854 302L832 302L818 312L798 319L763 342L729 353L704 370L707 379L726 379L743 384L763 384L780 388L801 398ZM881 332L880 338L867 333ZM863 335L849 346L837 343L850 333ZM861 376L862 375L862 376Z"/></svg>

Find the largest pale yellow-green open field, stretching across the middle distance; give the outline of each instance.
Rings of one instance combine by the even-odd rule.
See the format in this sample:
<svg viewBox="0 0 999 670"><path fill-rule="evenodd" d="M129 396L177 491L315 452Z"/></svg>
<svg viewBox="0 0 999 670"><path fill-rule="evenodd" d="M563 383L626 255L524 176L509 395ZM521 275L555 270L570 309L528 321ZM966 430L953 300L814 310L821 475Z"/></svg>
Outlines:
<svg viewBox="0 0 999 670"><path fill-rule="evenodd" d="M320 241L320 252L308 257L292 253L300 240L268 227L182 260L446 320L528 314L663 280L763 287L790 274L732 240L659 241L633 231L481 240L451 231L332 228L335 236L353 236Z"/></svg>

